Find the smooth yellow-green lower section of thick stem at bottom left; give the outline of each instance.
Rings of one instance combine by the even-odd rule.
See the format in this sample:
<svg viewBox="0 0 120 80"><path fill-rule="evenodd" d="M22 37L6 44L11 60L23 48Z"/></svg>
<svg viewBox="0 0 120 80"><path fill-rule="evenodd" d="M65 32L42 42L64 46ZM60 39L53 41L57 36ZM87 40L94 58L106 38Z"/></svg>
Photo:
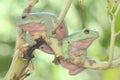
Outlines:
<svg viewBox="0 0 120 80"><path fill-rule="evenodd" d="M17 79L20 80L22 78L21 75L25 73L25 70L28 65L29 65L29 60L20 58L19 56L14 57L14 59L12 60L11 66L9 68L9 71L7 72L4 79L5 80L17 80Z"/></svg>

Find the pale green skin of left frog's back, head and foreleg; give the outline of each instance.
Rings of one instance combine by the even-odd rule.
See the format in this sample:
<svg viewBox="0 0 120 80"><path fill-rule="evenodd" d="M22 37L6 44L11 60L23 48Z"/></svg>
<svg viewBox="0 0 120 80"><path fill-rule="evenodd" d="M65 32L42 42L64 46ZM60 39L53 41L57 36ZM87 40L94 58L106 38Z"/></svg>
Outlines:
<svg viewBox="0 0 120 80"><path fill-rule="evenodd" d="M47 27L47 36L52 36L52 28L55 25L56 16L52 13L48 12L38 12L38 13L30 13L25 18L19 19L19 24L28 24L28 23L43 23Z"/></svg>

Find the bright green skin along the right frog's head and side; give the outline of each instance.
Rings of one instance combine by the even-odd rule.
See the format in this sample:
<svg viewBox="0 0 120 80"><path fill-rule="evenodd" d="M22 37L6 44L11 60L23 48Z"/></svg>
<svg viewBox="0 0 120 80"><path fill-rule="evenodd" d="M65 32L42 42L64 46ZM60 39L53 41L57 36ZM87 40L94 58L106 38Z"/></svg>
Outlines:
<svg viewBox="0 0 120 80"><path fill-rule="evenodd" d="M64 59L69 60L69 55L68 55L69 44L71 44L72 42L84 40L84 39L87 39L87 38L93 38L93 40L95 40L97 37L98 37L98 32L96 32L96 31L81 30L79 32L71 34L67 38L64 38L62 40L62 51L63 51ZM90 42L92 43L93 40L91 40ZM86 54L86 51L84 51L84 53Z"/></svg>

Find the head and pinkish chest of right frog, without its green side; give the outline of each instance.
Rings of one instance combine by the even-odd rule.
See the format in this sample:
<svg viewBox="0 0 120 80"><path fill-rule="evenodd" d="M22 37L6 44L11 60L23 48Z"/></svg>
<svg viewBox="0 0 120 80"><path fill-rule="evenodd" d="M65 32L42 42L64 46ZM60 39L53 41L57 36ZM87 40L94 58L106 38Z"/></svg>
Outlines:
<svg viewBox="0 0 120 80"><path fill-rule="evenodd" d="M71 35L68 40L68 53L70 54L70 62L73 64L82 64L82 60L86 57L86 50L92 42L98 37L98 32L84 29Z"/></svg>

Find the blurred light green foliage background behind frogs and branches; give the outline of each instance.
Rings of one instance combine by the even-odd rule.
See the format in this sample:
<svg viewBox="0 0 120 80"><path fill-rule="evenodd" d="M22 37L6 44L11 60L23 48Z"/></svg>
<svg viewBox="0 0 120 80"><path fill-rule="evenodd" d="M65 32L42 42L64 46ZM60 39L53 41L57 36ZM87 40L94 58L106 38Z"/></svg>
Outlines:
<svg viewBox="0 0 120 80"><path fill-rule="evenodd" d="M32 12L47 11L59 15L65 0L40 0ZM16 17L21 16L25 0L0 0L0 80L9 69L14 53L16 39ZM65 22L69 34L89 28L99 32L99 38L89 47L87 53L97 61L107 61L110 42L110 23L108 20L106 0L74 0ZM116 31L120 30L120 15L116 21ZM120 57L120 36L116 40L114 59ZM86 69L75 76L68 70L53 64L52 55L36 50L32 62L35 70L25 80L120 80L120 68L107 70Z"/></svg>

